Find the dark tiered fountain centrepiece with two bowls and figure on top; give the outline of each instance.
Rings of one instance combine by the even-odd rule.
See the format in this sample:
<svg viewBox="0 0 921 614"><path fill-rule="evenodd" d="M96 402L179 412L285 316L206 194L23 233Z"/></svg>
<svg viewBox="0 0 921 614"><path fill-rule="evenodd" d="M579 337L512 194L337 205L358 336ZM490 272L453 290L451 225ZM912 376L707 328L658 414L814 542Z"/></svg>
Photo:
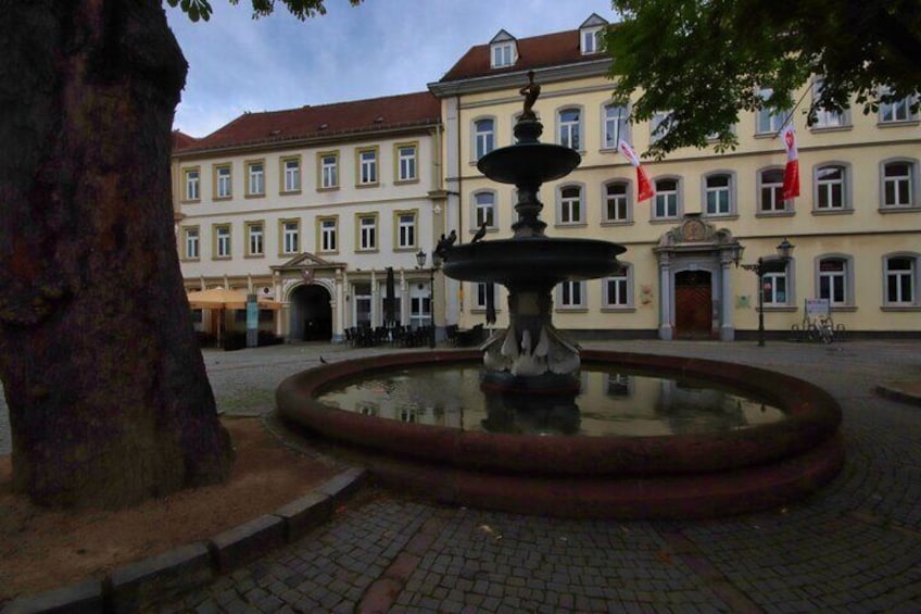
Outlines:
<svg viewBox="0 0 921 614"><path fill-rule="evenodd" d="M617 255L626 250L607 241L544 235L541 184L569 175L582 158L571 148L538 140L543 125L532 110L540 95L533 71L520 93L525 109L515 125L516 143L487 153L477 164L487 177L518 188L514 236L450 246L443 271L454 279L508 289L509 326L482 347L484 387L578 391L579 346L553 326L553 288L620 271Z"/></svg>

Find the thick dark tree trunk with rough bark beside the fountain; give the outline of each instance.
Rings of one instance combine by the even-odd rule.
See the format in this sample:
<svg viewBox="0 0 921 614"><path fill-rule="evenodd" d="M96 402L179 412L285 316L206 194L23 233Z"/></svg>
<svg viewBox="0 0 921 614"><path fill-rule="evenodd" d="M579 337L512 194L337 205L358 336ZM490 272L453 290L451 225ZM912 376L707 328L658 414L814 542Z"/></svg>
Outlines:
<svg viewBox="0 0 921 614"><path fill-rule="evenodd" d="M229 474L173 227L186 68L160 0L0 0L0 378L37 503Z"/></svg>

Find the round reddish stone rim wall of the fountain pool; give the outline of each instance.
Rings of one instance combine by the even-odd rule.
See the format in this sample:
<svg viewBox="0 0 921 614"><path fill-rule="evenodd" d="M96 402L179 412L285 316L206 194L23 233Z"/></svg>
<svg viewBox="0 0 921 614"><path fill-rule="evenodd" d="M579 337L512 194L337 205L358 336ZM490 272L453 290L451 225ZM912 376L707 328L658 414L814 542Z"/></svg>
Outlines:
<svg viewBox="0 0 921 614"><path fill-rule="evenodd" d="M480 360L476 351L441 351L333 363L282 381L277 406L292 427L359 450L384 485L510 512L606 518L737 514L806 497L843 464L841 409L830 394L783 374L699 359L582 352L583 361L611 369L737 390L781 409L786 419L705 435L547 437L407 424L318 400L374 372Z"/></svg>

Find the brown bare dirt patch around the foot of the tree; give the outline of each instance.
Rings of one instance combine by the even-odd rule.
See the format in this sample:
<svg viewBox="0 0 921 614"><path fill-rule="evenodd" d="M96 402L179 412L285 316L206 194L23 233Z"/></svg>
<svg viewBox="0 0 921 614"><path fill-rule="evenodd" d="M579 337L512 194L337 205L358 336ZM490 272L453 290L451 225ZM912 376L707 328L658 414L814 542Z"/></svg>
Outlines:
<svg viewBox="0 0 921 614"><path fill-rule="evenodd" d="M269 513L339 469L282 446L258 418L224 418L237 450L230 480L137 508L60 512L11 492L10 456L0 456L0 604L83 579Z"/></svg>

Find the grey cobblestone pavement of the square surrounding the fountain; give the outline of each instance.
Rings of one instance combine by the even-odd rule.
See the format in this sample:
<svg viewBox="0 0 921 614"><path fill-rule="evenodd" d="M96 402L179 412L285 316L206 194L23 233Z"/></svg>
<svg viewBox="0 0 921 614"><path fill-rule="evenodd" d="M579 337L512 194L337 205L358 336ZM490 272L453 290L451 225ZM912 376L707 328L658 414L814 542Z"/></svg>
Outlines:
<svg viewBox="0 0 921 614"><path fill-rule="evenodd" d="M301 541L163 611L921 611L921 408L873 392L881 380L921 377L917 341L583 346L813 381L844 410L845 467L806 501L707 522L553 519L369 489ZM270 411L285 376L357 353L285 346L207 351L205 362L222 411L252 415Z"/></svg>

